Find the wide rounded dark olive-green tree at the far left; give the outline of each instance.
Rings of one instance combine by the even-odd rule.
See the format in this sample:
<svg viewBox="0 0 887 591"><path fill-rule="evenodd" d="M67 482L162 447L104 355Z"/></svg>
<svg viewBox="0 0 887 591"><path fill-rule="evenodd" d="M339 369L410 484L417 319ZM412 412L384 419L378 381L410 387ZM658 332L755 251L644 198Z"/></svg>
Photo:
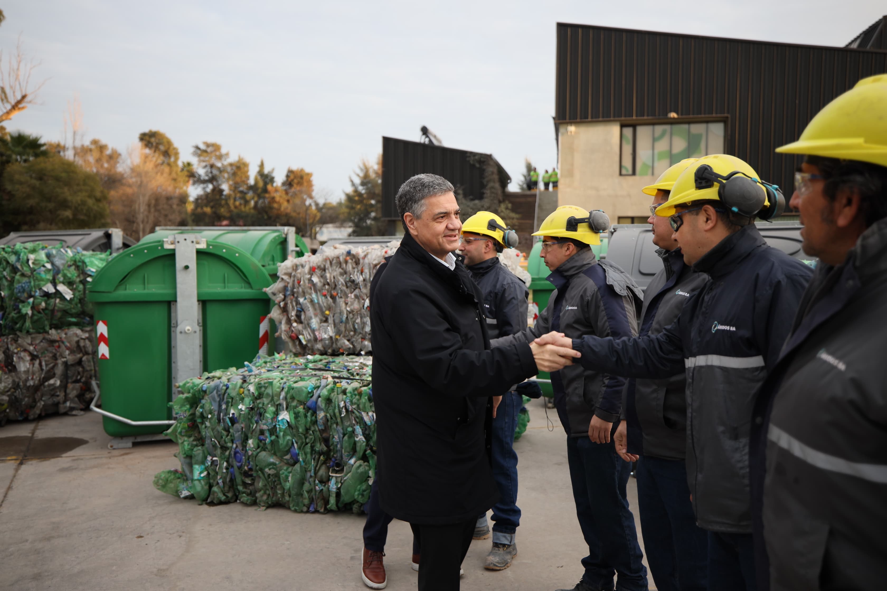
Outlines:
<svg viewBox="0 0 887 591"><path fill-rule="evenodd" d="M5 232L108 223L108 196L98 176L57 154L13 162L4 170L2 185Z"/></svg>

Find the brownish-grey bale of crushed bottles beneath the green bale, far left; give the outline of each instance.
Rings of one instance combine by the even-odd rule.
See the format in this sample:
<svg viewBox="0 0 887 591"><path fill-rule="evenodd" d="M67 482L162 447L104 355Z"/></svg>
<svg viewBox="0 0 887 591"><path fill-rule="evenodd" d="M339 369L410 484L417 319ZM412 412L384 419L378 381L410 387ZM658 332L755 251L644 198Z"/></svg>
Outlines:
<svg viewBox="0 0 887 591"><path fill-rule="evenodd" d="M0 337L0 425L89 407L94 343L92 328Z"/></svg>

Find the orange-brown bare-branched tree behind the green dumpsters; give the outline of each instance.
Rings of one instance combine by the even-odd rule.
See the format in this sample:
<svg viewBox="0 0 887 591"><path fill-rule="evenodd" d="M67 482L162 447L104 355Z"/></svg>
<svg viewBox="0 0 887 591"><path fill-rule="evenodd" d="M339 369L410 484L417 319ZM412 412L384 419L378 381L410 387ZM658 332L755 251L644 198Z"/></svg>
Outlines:
<svg viewBox="0 0 887 591"><path fill-rule="evenodd" d="M188 194L179 185L177 173L144 145L133 148L123 182L110 196L114 225L141 239L155 226L184 223Z"/></svg>

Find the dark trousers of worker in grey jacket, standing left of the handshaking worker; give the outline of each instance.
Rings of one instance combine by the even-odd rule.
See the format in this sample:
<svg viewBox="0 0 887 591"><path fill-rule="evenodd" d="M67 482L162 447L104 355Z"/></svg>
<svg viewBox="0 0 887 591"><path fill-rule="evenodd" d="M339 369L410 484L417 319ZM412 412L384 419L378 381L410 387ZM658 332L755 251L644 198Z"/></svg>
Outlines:
<svg viewBox="0 0 887 591"><path fill-rule="evenodd" d="M582 579L593 589L607 590L617 574L617 589L646 591L647 567L625 494L631 464L616 455L612 439L594 443L587 436L567 439L567 463L576 516L588 544Z"/></svg>

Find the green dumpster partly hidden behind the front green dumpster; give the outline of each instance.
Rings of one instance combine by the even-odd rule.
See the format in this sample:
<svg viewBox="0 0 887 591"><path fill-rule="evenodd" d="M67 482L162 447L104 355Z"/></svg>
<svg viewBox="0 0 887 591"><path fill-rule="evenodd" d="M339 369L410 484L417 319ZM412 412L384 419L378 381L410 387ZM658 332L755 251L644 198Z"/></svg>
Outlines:
<svg viewBox="0 0 887 591"><path fill-rule="evenodd" d="M182 234L184 232L199 234L200 237L207 240L224 242L250 253L256 261L259 261L259 264L262 265L268 276L271 277L271 283L277 281L278 263L286 261L290 253L296 258L310 254L308 245L305 245L305 241L295 233L295 228L292 226L245 226L233 228L228 226L160 226L152 234L142 238L141 242L163 240L171 234ZM269 311L273 309L274 305L274 302L269 299ZM267 329L273 351L284 351L283 339L273 340L277 327L271 319L268 320ZM265 351L265 353L269 353L269 351Z"/></svg>

